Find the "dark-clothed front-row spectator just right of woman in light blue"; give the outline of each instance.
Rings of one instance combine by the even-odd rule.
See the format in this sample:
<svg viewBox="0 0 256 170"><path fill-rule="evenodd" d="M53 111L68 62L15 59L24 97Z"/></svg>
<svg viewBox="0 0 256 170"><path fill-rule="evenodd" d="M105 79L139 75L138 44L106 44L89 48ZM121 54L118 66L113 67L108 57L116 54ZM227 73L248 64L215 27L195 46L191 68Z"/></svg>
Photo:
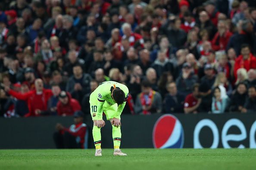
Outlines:
<svg viewBox="0 0 256 170"><path fill-rule="evenodd" d="M237 84L235 93L231 96L229 111L241 112L244 107L246 98L247 98L247 84L245 84L244 82L240 82Z"/></svg>

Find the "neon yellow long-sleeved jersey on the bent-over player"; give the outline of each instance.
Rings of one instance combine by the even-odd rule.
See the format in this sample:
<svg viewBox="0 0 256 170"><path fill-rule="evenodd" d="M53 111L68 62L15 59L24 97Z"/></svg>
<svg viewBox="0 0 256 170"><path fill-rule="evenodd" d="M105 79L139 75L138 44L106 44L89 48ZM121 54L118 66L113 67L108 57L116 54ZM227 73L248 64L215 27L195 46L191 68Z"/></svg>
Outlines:
<svg viewBox="0 0 256 170"><path fill-rule="evenodd" d="M120 88L122 91L125 93L125 99L127 100L129 90L126 85L123 85L119 82L114 82L114 81L108 81L108 82L103 82L101 85L99 85L98 88L94 91L94 93L98 94L98 102L97 102L97 118L102 118L102 109L103 109L103 104L106 102L108 103L109 106L112 106L116 104L116 102L112 99L111 96L111 89L112 88ZM123 109L125 108L125 103L123 102L118 106L116 117L120 117Z"/></svg>

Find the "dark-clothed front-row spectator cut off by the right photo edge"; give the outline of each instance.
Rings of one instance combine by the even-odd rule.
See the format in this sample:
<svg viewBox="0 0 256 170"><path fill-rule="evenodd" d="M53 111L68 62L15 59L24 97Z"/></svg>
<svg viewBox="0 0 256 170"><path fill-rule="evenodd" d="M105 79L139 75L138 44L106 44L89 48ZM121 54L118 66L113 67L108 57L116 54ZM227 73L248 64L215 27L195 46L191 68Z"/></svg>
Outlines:
<svg viewBox="0 0 256 170"><path fill-rule="evenodd" d="M256 87L253 85L248 88L248 97L245 100L242 112L246 113L246 112L255 112L255 111L256 111Z"/></svg>

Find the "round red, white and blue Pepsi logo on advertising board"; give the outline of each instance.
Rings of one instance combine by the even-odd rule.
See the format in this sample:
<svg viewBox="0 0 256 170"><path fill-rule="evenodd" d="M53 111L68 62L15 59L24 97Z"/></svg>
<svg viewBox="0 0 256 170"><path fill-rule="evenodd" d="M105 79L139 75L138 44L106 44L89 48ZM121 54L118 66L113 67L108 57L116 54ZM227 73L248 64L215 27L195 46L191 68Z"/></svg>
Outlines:
<svg viewBox="0 0 256 170"><path fill-rule="evenodd" d="M181 122L174 115L162 115L153 128L154 148L183 148L184 131Z"/></svg>

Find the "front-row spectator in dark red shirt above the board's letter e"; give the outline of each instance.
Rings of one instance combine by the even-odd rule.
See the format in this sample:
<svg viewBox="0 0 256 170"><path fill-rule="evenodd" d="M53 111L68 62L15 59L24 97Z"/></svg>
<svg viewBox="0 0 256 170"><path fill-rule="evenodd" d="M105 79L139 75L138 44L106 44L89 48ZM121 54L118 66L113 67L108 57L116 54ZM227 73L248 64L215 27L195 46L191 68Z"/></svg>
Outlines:
<svg viewBox="0 0 256 170"><path fill-rule="evenodd" d="M197 113L197 109L200 106L201 98L199 95L199 84L194 84L193 92L188 94L184 101L184 112L187 113Z"/></svg>

